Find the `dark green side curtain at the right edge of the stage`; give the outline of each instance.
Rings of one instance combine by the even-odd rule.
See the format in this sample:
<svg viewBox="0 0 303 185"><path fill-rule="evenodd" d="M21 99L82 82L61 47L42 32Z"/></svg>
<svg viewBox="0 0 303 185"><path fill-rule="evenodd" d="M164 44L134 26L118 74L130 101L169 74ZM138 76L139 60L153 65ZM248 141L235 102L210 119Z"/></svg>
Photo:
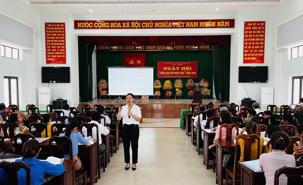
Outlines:
<svg viewBox="0 0 303 185"><path fill-rule="evenodd" d="M217 100L220 100L220 85L223 86L223 101L229 101L230 43L213 45L214 85Z"/></svg>

